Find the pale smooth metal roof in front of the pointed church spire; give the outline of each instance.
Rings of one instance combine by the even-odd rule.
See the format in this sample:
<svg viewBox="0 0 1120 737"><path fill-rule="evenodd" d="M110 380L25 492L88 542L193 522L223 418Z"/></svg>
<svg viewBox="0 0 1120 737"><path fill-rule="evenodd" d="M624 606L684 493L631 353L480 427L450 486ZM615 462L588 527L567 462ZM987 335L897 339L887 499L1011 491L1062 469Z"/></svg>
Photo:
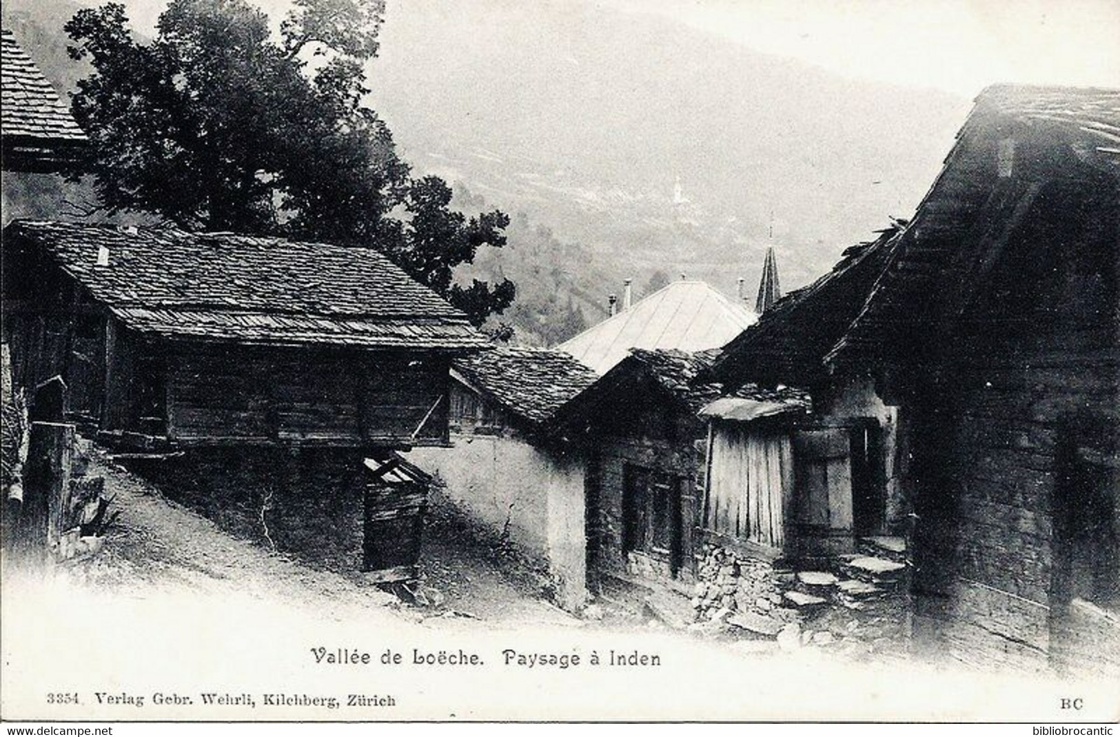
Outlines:
<svg viewBox="0 0 1120 737"><path fill-rule="evenodd" d="M757 317L703 281L674 281L557 346L599 374L631 348L718 348Z"/></svg>

